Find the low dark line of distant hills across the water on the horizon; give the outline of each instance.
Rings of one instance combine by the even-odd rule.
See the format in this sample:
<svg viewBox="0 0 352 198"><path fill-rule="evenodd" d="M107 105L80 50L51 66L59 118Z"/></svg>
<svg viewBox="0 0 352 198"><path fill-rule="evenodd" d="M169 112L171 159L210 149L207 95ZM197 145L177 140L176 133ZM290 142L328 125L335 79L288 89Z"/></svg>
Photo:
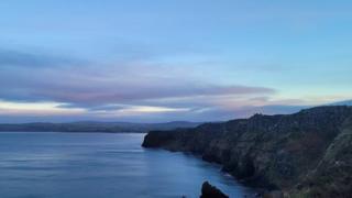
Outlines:
<svg viewBox="0 0 352 198"><path fill-rule="evenodd" d="M132 122L69 122L69 123L20 123L0 124L0 132L139 132L144 133L152 130L174 130L178 128L194 128L200 123L196 122L165 122L165 123L132 123Z"/></svg>

